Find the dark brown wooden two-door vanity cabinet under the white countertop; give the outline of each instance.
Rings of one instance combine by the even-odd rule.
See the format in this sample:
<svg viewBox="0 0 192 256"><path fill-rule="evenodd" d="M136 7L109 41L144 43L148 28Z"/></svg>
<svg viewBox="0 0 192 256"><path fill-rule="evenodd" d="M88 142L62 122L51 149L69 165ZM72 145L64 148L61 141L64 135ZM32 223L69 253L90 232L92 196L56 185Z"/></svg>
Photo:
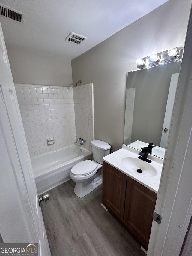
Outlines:
<svg viewBox="0 0 192 256"><path fill-rule="evenodd" d="M145 250L148 248L157 194L103 162L103 205Z"/></svg>

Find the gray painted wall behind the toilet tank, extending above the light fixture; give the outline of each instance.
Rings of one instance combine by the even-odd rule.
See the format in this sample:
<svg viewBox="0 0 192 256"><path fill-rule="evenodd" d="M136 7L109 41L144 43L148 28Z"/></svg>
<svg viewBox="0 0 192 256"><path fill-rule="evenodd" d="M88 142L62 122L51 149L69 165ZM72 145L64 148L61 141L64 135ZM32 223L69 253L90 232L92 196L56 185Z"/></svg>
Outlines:
<svg viewBox="0 0 192 256"><path fill-rule="evenodd" d="M126 73L136 59L184 46L191 0L170 0L71 61L73 82L94 84L95 139L123 144Z"/></svg>

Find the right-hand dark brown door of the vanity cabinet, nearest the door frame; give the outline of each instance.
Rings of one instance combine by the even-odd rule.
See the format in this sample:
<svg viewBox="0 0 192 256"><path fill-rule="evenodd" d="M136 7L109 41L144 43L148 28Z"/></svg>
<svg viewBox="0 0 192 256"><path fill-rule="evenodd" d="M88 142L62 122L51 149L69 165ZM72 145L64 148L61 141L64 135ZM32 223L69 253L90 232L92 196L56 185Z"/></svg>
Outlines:
<svg viewBox="0 0 192 256"><path fill-rule="evenodd" d="M128 177L124 221L140 244L147 250L157 194Z"/></svg>

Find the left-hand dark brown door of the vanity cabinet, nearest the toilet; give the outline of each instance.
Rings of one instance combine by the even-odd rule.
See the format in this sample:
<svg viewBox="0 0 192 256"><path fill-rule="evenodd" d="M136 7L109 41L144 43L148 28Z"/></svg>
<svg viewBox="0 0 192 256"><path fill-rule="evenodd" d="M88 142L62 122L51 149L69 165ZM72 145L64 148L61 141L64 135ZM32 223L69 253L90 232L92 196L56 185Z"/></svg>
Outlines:
<svg viewBox="0 0 192 256"><path fill-rule="evenodd" d="M123 219L127 175L103 161L103 205Z"/></svg>

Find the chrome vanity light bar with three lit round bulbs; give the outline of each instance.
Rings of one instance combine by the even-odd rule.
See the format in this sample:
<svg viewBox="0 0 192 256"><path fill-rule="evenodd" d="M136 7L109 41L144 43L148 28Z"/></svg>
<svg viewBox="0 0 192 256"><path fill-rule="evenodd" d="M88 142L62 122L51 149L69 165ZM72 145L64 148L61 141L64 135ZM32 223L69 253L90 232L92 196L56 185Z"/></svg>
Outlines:
<svg viewBox="0 0 192 256"><path fill-rule="evenodd" d="M171 47L168 51L152 53L143 59L137 59L137 68L151 68L166 63L182 60L184 47Z"/></svg>

